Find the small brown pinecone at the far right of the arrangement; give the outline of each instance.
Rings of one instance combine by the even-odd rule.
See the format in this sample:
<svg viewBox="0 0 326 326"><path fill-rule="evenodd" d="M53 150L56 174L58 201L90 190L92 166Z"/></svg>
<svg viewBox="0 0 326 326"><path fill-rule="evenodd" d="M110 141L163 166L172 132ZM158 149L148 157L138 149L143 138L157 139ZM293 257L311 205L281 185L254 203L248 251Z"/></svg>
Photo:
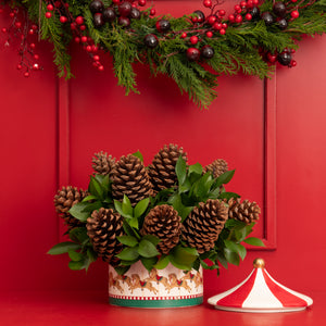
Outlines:
<svg viewBox="0 0 326 326"><path fill-rule="evenodd" d="M229 218L235 218L244 222L246 224L251 224L260 218L261 208L254 201L250 202L249 200L243 200L241 202L240 198L231 198L227 203L229 205Z"/></svg>

